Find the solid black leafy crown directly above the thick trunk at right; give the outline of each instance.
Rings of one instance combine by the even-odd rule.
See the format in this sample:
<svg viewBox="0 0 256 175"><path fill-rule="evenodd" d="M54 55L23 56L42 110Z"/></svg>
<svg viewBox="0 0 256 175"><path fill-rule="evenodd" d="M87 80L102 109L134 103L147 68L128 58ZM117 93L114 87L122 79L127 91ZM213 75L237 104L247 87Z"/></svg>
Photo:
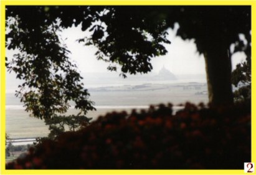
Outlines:
<svg viewBox="0 0 256 175"><path fill-rule="evenodd" d="M177 35L183 39L196 39L197 50L207 52L211 42L229 49L239 40L238 34L251 30L250 6L182 6L169 11L168 26L179 22Z"/></svg>

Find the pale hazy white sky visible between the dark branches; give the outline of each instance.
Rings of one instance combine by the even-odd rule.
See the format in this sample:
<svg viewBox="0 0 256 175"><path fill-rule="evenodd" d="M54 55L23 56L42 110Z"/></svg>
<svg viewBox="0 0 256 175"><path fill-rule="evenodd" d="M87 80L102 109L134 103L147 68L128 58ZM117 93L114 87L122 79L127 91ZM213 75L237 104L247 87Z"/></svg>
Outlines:
<svg viewBox="0 0 256 175"><path fill-rule="evenodd" d="M68 49L72 52L70 57L77 62L81 72L108 72L108 63L97 60L95 57L96 48L92 45L85 46L78 44L75 40L82 38L87 33L81 31L81 26L71 27L62 32L62 39L66 39ZM168 39L171 44L166 44L168 54L153 58L153 72L159 72L163 67L176 75L181 74L205 74L204 57L199 55L194 40L183 40L177 37L175 31L168 30ZM244 54L235 54L232 58L233 67L241 60L245 60Z"/></svg>

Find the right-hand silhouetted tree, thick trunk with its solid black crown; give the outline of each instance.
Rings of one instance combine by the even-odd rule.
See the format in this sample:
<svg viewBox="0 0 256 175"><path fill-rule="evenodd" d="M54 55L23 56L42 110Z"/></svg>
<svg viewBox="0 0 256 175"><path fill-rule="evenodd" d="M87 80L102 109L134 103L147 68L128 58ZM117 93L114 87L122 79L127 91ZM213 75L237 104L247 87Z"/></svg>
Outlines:
<svg viewBox="0 0 256 175"><path fill-rule="evenodd" d="M196 39L197 50L204 54L212 105L233 103L229 48L239 40L238 34L249 34L250 14L250 6L184 6L168 16L170 24L173 19L179 22L178 35L183 39ZM241 50L244 48L237 47L236 51Z"/></svg>

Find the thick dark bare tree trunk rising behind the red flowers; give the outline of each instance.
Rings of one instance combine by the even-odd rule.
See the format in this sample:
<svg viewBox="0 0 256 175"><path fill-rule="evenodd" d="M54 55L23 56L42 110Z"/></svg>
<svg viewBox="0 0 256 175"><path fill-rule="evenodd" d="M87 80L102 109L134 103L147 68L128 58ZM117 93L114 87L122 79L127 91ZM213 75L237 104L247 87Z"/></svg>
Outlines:
<svg viewBox="0 0 256 175"><path fill-rule="evenodd" d="M228 50L220 43L211 43L204 52L209 103L214 106L232 105L231 60Z"/></svg>

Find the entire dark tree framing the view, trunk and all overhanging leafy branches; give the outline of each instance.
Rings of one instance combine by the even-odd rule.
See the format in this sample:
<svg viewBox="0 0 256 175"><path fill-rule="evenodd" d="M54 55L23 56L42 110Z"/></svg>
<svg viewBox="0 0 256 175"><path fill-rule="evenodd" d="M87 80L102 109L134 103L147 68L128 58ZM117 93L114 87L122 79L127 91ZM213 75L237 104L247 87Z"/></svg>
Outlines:
<svg viewBox="0 0 256 175"><path fill-rule="evenodd" d="M21 99L33 115L53 116L56 108L67 106L69 100L76 100L83 111L90 110L88 93L75 83L81 77L56 32L82 24L82 31L92 35L78 42L96 45L97 59L110 62L109 70L120 65L121 75L126 77L126 73L153 69L151 58L166 54L163 44L170 43L166 29L178 22L177 35L195 39L197 50L204 54L209 102L230 105L229 47L238 34L250 32L250 11L250 6L7 6L6 25L11 30L6 46L21 51L14 60L8 59L7 67L26 81L21 89L31 89L29 95L21 93ZM42 113L37 114L39 104Z"/></svg>

